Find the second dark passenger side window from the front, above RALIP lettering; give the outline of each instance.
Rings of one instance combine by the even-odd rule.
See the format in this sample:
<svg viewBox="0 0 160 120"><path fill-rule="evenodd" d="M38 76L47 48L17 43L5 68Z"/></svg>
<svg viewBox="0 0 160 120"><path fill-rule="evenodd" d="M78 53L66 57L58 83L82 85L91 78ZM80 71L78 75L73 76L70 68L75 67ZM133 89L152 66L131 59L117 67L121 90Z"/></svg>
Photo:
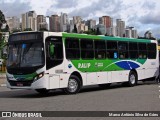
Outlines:
<svg viewBox="0 0 160 120"><path fill-rule="evenodd" d="M82 59L93 59L93 40L81 39L81 58Z"/></svg>

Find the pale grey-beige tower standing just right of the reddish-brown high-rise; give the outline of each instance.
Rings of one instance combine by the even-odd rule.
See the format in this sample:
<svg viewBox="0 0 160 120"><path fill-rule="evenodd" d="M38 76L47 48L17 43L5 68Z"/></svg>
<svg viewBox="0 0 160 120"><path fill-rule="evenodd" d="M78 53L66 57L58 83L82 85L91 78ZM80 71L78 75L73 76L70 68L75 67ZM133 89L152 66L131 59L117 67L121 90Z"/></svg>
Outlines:
<svg viewBox="0 0 160 120"><path fill-rule="evenodd" d="M125 22L121 19L116 20L117 27L117 36L124 37L125 36Z"/></svg>

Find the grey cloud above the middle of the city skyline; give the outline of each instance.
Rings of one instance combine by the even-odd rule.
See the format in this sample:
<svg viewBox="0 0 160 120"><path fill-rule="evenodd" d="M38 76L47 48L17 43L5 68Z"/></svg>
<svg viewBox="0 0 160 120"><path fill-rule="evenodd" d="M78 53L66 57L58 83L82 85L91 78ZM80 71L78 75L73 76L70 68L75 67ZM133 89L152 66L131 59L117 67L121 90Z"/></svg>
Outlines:
<svg viewBox="0 0 160 120"><path fill-rule="evenodd" d="M92 2L91 5L74 9L69 13L70 16L82 16L84 19L93 19L109 15L111 17L118 16L118 11L121 11L123 4L121 0L97 0Z"/></svg>

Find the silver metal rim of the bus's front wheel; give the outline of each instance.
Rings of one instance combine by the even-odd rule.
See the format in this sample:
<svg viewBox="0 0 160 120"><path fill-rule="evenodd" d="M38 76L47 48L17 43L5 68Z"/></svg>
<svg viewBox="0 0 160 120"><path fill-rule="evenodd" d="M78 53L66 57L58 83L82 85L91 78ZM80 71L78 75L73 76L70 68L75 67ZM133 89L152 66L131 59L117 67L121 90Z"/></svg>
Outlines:
<svg viewBox="0 0 160 120"><path fill-rule="evenodd" d="M78 83L75 79L69 79L69 82L68 82L68 91L69 92L75 92L78 88Z"/></svg>

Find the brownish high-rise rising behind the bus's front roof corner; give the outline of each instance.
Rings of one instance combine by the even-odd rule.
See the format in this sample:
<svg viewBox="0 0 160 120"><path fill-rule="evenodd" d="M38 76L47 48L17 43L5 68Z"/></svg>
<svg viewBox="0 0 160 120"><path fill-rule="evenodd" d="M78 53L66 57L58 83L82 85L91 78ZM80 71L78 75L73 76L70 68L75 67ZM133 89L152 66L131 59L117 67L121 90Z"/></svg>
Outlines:
<svg viewBox="0 0 160 120"><path fill-rule="evenodd" d="M52 15L50 17L50 31L60 32L60 17L58 15Z"/></svg>

